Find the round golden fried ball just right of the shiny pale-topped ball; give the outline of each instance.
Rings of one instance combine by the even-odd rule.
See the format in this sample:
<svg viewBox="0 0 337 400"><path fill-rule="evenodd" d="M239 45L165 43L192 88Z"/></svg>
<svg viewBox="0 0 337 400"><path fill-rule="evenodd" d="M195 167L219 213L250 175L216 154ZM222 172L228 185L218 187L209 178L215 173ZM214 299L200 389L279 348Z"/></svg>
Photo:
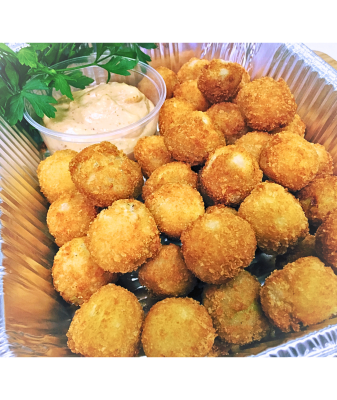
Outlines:
<svg viewBox="0 0 337 400"><path fill-rule="evenodd" d="M296 192L318 172L315 147L292 132L276 133L263 147L260 168L274 182Z"/></svg>

